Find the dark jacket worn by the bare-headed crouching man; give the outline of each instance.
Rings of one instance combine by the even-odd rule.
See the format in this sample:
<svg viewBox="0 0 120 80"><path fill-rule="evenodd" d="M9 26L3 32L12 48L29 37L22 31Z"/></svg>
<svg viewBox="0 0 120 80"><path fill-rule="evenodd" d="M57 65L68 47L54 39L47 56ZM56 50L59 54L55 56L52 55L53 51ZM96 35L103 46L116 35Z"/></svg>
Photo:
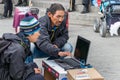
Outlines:
<svg viewBox="0 0 120 80"><path fill-rule="evenodd" d="M66 18L56 30L51 27L50 19L47 15L41 17L39 22L41 27L41 36L36 42L38 48L51 56L58 57L60 48L64 46L69 38L68 29L66 28ZM53 38L52 35L54 36ZM53 44L57 45L59 48L55 48Z"/></svg>

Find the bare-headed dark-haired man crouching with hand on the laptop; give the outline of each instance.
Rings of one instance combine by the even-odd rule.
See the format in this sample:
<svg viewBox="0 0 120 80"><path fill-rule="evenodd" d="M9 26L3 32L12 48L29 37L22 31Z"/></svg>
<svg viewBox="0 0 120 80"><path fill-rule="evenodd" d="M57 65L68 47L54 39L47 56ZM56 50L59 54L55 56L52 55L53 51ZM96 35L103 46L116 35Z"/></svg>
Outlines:
<svg viewBox="0 0 120 80"><path fill-rule="evenodd" d="M41 17L39 22L41 36L35 43L38 49L36 48L34 57L46 55L53 59L70 56L72 45L67 43L69 37L64 7L58 3L51 4L46 15Z"/></svg>

